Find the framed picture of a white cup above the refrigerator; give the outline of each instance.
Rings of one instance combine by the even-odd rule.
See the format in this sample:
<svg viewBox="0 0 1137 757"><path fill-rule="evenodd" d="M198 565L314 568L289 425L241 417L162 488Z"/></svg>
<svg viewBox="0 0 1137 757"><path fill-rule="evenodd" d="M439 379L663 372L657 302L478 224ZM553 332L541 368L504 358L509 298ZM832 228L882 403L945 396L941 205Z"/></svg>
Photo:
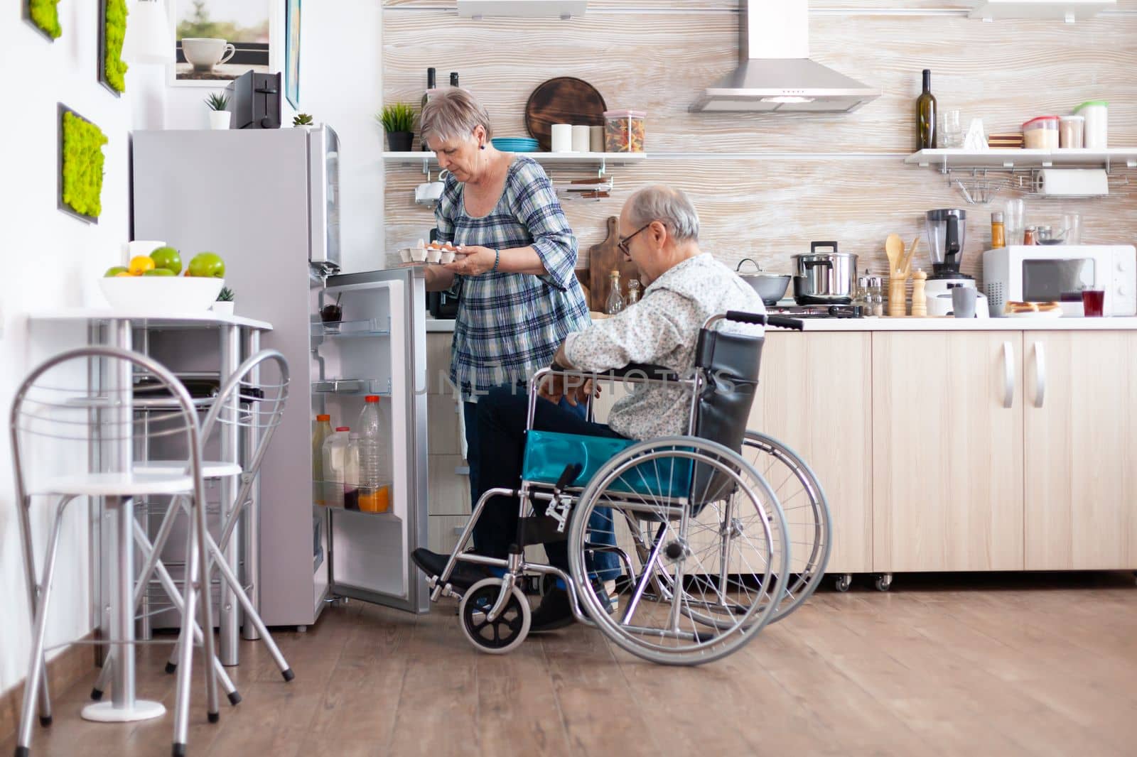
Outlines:
<svg viewBox="0 0 1137 757"><path fill-rule="evenodd" d="M171 84L225 86L249 70L272 70L276 0L173 0Z"/></svg>

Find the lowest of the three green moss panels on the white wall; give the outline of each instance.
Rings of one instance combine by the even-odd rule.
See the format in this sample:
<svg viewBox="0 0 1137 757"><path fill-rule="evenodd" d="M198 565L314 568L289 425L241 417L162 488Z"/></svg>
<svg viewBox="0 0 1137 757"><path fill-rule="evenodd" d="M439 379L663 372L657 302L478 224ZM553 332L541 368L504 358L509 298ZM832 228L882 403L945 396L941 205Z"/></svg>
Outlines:
<svg viewBox="0 0 1137 757"><path fill-rule="evenodd" d="M102 130L59 103L59 209L90 223L102 213Z"/></svg>

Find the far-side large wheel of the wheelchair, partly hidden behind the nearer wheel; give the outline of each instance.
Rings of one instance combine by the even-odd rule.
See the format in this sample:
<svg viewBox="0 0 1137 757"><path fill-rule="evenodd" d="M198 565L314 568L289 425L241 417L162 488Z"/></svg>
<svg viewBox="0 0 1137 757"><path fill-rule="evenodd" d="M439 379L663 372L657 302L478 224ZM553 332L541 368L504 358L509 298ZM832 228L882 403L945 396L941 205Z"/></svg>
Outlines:
<svg viewBox="0 0 1137 757"><path fill-rule="evenodd" d="M790 575L786 596L770 618L775 623L800 607L824 579L831 547L829 504L805 460L777 439L747 431L742 457L770 484L786 515Z"/></svg>

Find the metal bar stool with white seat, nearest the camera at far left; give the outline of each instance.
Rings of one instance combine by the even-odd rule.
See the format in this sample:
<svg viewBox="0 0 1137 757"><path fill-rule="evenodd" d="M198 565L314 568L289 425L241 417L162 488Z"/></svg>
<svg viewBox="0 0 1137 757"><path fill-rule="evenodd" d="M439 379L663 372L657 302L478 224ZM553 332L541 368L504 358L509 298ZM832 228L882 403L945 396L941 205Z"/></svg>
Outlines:
<svg viewBox="0 0 1137 757"><path fill-rule="evenodd" d="M151 414L150 436L182 438L186 457L169 471L142 472L132 468L135 439L135 372L153 376L152 389L173 399L171 409ZM10 414L13 464L16 481L20 541L27 577L27 594L33 621L33 643L24 689L16 756L26 757L32 738L32 716L39 701L40 722L51 723L51 701L44 674L44 643L48 608L59 547L60 524L67 507L80 497L101 497L107 515L114 521L116 569L109 601L110 639L117 649L114 666L113 698L109 702L88 705L86 719L127 722L160 717L160 702L134 696L134 511L135 497L181 496L191 502L191 527L186 539L188 580L182 594L181 642L192 648L197 604L201 601L201 627L213 629L209 582L201 581L201 567L208 560L205 540L205 484L201 477L200 429L185 388L156 360L111 347L84 347L50 358L24 380ZM67 471L83 460L85 471ZM92 461L98 460L98 465ZM32 466L30 461L39 465ZM40 582L35 581L32 538L32 506L47 498L53 502L48 548ZM202 635L207 659L213 659L211 633ZM189 672L189 665L185 666ZM207 708L210 722L219 717L217 680L214 666L206 668ZM181 692L179 692L181 693ZM188 692L186 692L188 693ZM184 754L184 735L175 741L174 752Z"/></svg>

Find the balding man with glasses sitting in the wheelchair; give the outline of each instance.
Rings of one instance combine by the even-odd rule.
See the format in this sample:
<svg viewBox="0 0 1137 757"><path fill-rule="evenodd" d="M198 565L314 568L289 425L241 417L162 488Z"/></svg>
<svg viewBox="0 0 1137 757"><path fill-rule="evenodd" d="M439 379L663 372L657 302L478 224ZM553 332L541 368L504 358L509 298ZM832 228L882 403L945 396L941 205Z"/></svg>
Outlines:
<svg viewBox="0 0 1137 757"><path fill-rule="evenodd" d="M620 214L620 250L636 264L644 296L619 315L568 334L557 350L557 364L597 373L631 363L652 364L690 376L699 330L708 317L727 310L765 313L762 299L746 282L699 249L698 214L684 192L661 185L636 192ZM721 327L761 331L740 324ZM570 404L576 405L590 390L590 385L566 385L562 377L551 378L541 390L541 396L551 401L538 401L533 427L634 440L687 432L691 401L687 386L633 384L629 394L612 407L607 424L584 421L558 404L567 397ZM479 442L487 452L479 463L481 492L518 485L526 416L528 398L509 388L492 390L478 402ZM487 502L481 526L495 539L480 543L478 551L506 558L516 539L516 498L495 497ZM565 542L548 543L545 549L551 565L568 569ZM448 556L417 549L414 559L429 575L439 575ZM468 587L484 576L479 567L459 563L451 583ZM533 612L530 633L563 627L572 619L566 592L555 589Z"/></svg>

